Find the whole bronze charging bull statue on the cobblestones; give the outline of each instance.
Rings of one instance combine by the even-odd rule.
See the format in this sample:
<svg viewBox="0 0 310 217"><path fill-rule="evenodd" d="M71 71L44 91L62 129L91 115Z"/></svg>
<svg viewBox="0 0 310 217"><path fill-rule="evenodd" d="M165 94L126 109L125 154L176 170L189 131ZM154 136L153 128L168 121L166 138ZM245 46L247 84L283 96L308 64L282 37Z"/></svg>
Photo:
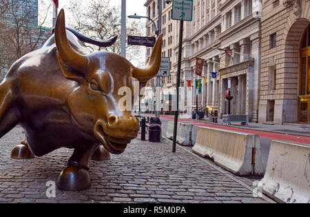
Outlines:
<svg viewBox="0 0 310 217"><path fill-rule="evenodd" d="M158 37L143 69L112 52L90 52L65 30L63 10L55 31L42 48L17 60L0 84L0 138L17 124L25 140L12 150L14 158L43 156L61 147L74 152L59 175L57 187L90 187L89 161L105 149L121 154L136 138L138 118L120 110L120 87L144 87L161 64ZM103 148L101 146L103 145Z"/></svg>

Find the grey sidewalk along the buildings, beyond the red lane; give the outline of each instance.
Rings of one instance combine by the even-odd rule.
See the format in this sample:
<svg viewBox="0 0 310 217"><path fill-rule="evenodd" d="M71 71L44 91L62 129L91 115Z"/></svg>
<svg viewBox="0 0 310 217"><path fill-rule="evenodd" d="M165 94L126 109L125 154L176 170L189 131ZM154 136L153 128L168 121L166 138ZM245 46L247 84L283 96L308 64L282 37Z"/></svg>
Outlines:
<svg viewBox="0 0 310 217"><path fill-rule="evenodd" d="M154 116L154 114L144 114L144 113L142 114L141 113L141 116ZM161 118L165 118L165 117L171 119L172 121L174 120L173 115L161 115ZM219 118L218 118L218 123L212 123L205 119L193 120L192 118L183 118L182 116L179 116L178 120L223 125L222 119L219 119ZM264 123L249 123L249 125L247 126L229 125L229 127L238 127L240 129L259 130L259 131L264 131L264 132L275 132L275 133L280 133L280 134L310 137L310 125L307 125L307 124L287 123L284 125L271 125L271 124L264 124Z"/></svg>

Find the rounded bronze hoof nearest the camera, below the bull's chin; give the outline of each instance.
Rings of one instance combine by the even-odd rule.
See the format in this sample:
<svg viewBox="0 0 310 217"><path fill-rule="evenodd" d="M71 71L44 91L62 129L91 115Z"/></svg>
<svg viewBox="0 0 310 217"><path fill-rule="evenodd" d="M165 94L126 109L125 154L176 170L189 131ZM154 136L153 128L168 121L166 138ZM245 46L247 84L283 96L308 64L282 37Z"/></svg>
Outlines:
<svg viewBox="0 0 310 217"><path fill-rule="evenodd" d="M90 175L86 169L76 166L65 167L58 178L58 189L81 191L90 187Z"/></svg>

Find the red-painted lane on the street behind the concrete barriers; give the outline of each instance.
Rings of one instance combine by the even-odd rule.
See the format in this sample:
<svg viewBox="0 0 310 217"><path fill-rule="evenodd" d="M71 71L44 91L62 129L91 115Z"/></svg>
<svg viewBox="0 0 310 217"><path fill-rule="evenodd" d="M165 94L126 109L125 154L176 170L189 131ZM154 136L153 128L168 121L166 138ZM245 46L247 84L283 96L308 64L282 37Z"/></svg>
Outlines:
<svg viewBox="0 0 310 217"><path fill-rule="evenodd" d="M145 114L143 114L145 115ZM154 116L154 115L149 115L146 114L146 116ZM173 116L161 116L161 118L164 118L169 121L174 121ZM248 134L258 134L260 138L268 138L272 140L282 140L282 141L291 141L291 142L296 142L296 143L304 143L304 144L309 144L310 145L310 137L308 136L297 136L297 135L289 135L289 134L281 134L281 133L276 133L276 132L266 132L266 131L261 131L261 130L247 130L239 127L229 127L227 125L219 125L219 124L212 124L212 123L203 123L200 121L192 121L189 119L184 119L184 118L178 118L178 121L181 123L192 123L194 125L198 126L203 126L203 127L214 127L218 129L223 129L223 130L231 130L231 131L236 131L236 132L244 132Z"/></svg>

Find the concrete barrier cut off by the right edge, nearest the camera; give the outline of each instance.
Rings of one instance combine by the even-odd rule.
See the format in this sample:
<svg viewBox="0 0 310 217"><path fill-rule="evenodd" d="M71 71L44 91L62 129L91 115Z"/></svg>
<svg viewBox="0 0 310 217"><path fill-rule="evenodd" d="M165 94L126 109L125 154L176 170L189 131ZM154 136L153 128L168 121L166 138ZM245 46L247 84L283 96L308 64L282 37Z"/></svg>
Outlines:
<svg viewBox="0 0 310 217"><path fill-rule="evenodd" d="M310 145L271 141L260 192L281 203L310 203Z"/></svg>

